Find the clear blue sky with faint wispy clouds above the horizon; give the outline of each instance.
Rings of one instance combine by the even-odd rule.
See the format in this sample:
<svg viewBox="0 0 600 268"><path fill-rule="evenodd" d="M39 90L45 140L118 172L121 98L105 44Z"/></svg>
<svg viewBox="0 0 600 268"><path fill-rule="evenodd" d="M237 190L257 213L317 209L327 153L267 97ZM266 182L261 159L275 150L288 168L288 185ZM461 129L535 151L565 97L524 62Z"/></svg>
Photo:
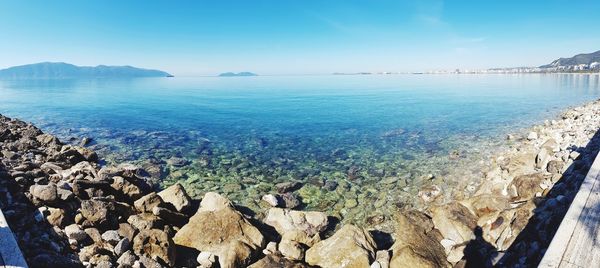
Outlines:
<svg viewBox="0 0 600 268"><path fill-rule="evenodd" d="M179 76L538 66L600 50L597 0L0 0L0 68Z"/></svg>

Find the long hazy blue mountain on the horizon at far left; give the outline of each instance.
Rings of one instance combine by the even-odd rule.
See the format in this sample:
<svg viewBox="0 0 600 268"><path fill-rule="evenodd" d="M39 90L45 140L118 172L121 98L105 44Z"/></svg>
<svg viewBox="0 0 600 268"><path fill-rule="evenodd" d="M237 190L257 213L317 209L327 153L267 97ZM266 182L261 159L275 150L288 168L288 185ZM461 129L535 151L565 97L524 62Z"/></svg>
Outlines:
<svg viewBox="0 0 600 268"><path fill-rule="evenodd" d="M111 78L111 77L172 77L159 71L131 66L76 66L64 62L42 62L0 70L0 78Z"/></svg>

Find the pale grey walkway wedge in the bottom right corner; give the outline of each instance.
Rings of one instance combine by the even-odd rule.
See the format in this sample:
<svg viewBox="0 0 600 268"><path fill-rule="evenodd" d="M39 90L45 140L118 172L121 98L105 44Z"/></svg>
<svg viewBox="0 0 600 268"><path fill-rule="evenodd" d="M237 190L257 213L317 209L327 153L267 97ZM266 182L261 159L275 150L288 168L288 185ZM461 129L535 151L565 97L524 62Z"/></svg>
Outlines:
<svg viewBox="0 0 600 268"><path fill-rule="evenodd" d="M599 156L538 267L600 267Z"/></svg>

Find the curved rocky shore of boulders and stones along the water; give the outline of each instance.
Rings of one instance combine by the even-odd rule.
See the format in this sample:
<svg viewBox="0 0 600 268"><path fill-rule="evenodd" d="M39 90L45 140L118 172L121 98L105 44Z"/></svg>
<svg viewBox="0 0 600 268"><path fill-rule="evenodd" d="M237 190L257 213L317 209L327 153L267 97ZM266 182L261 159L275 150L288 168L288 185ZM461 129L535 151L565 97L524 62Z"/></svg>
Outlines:
<svg viewBox="0 0 600 268"><path fill-rule="evenodd" d="M264 211L216 192L195 200L0 116L0 208L31 267L528 267L589 170L599 128L596 101L510 135L470 194L446 202L443 185L425 187L414 198L429 205L395 208L382 230L286 208L301 202L293 181L262 197Z"/></svg>

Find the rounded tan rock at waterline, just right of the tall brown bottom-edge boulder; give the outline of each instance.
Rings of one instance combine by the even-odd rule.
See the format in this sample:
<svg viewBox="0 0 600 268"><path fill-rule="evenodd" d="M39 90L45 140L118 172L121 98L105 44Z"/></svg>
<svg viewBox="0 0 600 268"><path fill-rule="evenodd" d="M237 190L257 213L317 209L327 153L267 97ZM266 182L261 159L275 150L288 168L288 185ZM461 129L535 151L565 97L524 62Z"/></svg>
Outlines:
<svg viewBox="0 0 600 268"><path fill-rule="evenodd" d="M431 218L435 228L444 238L457 243L474 238L473 230L477 227L477 219L459 202L453 201L443 206L432 207Z"/></svg>

